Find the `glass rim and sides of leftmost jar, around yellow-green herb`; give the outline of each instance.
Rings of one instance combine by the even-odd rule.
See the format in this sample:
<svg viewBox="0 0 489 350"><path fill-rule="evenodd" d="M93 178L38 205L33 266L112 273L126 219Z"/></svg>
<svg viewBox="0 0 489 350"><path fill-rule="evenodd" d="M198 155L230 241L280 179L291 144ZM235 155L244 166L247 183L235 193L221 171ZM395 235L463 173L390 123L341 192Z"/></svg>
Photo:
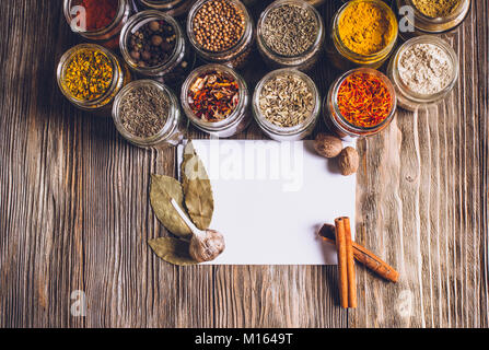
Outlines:
<svg viewBox="0 0 489 350"><path fill-rule="evenodd" d="M108 58L112 66L112 82L105 93L98 98L82 100L73 96L70 89L66 84L67 68L73 58L82 51L98 51ZM69 49L62 55L57 69L57 81L62 94L77 107L94 112L100 115L109 114L112 104L117 93L131 80L129 69L125 63L120 63L119 59L108 49L96 44L80 44Z"/></svg>

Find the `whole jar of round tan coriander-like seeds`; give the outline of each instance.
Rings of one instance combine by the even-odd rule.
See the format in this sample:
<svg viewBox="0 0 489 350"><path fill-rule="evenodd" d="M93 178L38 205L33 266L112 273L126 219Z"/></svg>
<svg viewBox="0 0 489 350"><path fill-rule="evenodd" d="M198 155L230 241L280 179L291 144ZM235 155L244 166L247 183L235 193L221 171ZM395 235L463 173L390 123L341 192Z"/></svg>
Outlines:
<svg viewBox="0 0 489 350"><path fill-rule="evenodd" d="M242 68L255 39L254 24L238 0L199 0L190 9L187 35L207 62Z"/></svg>

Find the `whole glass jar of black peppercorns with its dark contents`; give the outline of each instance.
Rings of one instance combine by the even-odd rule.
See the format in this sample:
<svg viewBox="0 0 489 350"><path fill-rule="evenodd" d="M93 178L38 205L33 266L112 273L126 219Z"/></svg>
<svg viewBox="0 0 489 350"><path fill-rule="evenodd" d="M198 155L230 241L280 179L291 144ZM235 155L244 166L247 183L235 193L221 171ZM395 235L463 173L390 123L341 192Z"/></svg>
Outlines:
<svg viewBox="0 0 489 350"><path fill-rule="evenodd" d="M120 35L120 51L139 75L174 85L181 83L195 62L178 23L154 10L131 16Z"/></svg>

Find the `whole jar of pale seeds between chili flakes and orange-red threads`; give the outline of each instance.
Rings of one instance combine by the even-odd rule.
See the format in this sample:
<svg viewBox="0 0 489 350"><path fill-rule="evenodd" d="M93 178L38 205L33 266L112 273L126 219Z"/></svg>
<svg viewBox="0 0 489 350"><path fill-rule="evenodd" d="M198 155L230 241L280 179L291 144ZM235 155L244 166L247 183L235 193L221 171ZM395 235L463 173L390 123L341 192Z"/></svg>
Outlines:
<svg viewBox="0 0 489 350"><path fill-rule="evenodd" d="M261 131L277 141L295 141L314 129L321 109L319 91L305 73L275 70L257 84L253 114Z"/></svg>

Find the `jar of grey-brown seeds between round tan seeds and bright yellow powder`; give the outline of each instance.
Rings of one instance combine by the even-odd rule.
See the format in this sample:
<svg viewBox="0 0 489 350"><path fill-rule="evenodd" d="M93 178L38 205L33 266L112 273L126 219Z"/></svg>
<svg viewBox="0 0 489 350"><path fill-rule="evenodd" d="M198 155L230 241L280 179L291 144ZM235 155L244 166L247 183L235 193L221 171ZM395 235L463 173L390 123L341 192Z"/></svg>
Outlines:
<svg viewBox="0 0 489 350"><path fill-rule="evenodd" d="M319 13L302 0L272 2L257 25L258 49L272 68L313 68L322 52L324 36Z"/></svg>

